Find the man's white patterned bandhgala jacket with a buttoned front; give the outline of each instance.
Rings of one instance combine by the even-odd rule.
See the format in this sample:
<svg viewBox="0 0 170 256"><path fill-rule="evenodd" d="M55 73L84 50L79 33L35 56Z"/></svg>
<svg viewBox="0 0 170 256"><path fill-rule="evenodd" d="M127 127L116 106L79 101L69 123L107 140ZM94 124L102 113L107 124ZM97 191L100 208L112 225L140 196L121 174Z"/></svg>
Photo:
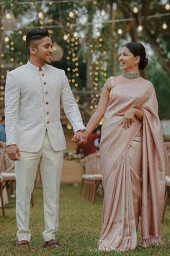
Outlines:
<svg viewBox="0 0 170 256"><path fill-rule="evenodd" d="M17 144L21 151L40 150L46 129L53 149L66 149L60 101L74 132L84 129L68 79L61 69L45 64L39 72L28 61L7 74L5 98L6 145Z"/></svg>

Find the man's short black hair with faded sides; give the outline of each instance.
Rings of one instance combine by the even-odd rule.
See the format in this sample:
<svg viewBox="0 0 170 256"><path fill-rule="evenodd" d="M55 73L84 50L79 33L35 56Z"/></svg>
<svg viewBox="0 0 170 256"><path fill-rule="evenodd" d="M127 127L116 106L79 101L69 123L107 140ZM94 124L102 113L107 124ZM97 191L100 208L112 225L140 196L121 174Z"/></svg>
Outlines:
<svg viewBox="0 0 170 256"><path fill-rule="evenodd" d="M30 32L27 33L26 51L29 56L30 56L30 46L32 46L35 43L35 41L45 38L45 36L50 37L48 30L46 29L31 30Z"/></svg>

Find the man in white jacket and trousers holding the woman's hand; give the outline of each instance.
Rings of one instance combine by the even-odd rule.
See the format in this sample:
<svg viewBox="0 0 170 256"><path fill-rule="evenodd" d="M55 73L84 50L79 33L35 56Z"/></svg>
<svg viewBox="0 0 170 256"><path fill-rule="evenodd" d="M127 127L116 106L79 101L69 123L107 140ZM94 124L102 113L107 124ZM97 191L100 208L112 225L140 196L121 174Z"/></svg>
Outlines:
<svg viewBox="0 0 170 256"><path fill-rule="evenodd" d="M66 74L48 64L52 41L48 30L27 34L27 64L6 77L6 145L9 158L16 161L16 217L19 247L30 242L30 198L40 163L44 195L45 247L60 247L58 200L66 141L60 120L60 99L73 130L86 142L86 131Z"/></svg>

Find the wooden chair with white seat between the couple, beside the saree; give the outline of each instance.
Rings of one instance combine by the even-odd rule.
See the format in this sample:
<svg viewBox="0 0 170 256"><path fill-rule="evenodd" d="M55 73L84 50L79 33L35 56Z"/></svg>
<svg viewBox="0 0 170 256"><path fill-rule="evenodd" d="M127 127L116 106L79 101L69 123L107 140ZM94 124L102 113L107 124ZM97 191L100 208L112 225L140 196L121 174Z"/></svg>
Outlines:
<svg viewBox="0 0 170 256"><path fill-rule="evenodd" d="M97 188L102 182L102 174L99 168L100 156L99 153L87 155L81 159L81 175L83 195L87 200L94 203L97 197Z"/></svg>

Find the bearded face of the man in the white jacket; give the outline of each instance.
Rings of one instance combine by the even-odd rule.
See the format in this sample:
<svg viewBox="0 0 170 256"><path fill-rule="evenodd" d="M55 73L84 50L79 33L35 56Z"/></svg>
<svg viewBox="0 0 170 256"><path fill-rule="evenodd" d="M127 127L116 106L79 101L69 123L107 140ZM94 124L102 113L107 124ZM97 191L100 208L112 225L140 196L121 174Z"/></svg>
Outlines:
<svg viewBox="0 0 170 256"><path fill-rule="evenodd" d="M36 46L31 46L30 51L41 64L50 64L53 53L52 46L52 40L48 36L45 36Z"/></svg>

